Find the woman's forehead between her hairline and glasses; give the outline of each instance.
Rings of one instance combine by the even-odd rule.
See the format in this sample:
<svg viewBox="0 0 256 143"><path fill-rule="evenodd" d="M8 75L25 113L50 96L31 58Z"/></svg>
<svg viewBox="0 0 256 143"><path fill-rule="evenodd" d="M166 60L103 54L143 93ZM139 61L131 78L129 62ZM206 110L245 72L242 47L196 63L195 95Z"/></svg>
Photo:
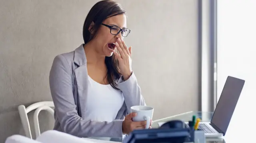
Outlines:
<svg viewBox="0 0 256 143"><path fill-rule="evenodd" d="M120 28L124 28L126 27L126 15L119 14L119 15L107 18L106 20L104 20L104 24L117 25Z"/></svg>

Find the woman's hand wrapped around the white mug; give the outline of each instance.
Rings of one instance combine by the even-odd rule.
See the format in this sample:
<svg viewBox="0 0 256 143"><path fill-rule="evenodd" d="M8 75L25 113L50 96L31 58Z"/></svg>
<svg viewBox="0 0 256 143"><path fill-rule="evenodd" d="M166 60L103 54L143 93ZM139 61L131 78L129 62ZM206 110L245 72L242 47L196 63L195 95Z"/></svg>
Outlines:
<svg viewBox="0 0 256 143"><path fill-rule="evenodd" d="M147 121L132 121L132 118L136 116L136 113L128 114L122 124L123 133L130 134L134 129L145 129ZM149 129L151 129L153 121L150 120Z"/></svg>

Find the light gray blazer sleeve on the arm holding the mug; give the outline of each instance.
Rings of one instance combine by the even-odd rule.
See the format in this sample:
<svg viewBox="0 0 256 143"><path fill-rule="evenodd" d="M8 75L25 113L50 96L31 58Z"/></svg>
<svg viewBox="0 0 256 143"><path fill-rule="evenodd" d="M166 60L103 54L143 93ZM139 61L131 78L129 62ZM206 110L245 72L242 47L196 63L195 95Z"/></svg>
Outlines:
<svg viewBox="0 0 256 143"><path fill-rule="evenodd" d="M54 111L63 132L78 137L122 137L123 120L92 121L78 115L73 95L72 71L63 55L54 58L49 80Z"/></svg>

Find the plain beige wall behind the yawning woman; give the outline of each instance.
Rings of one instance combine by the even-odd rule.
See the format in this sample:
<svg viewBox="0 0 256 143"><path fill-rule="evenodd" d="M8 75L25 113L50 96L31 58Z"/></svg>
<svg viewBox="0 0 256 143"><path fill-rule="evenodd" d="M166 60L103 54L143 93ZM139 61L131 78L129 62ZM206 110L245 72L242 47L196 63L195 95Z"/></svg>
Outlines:
<svg viewBox="0 0 256 143"><path fill-rule="evenodd" d="M18 105L52 100L52 60L83 42L84 19L97 1L0 0L0 142L24 135ZM133 70L155 108L153 119L197 110L198 1L119 1L128 11L126 43L133 46ZM53 119L40 123L44 131Z"/></svg>

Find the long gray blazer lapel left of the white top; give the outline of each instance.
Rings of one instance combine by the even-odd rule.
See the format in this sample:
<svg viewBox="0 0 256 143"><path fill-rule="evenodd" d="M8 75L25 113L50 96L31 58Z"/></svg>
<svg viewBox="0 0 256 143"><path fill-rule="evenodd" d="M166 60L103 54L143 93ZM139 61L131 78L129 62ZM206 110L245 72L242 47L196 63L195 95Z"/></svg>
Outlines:
<svg viewBox="0 0 256 143"><path fill-rule="evenodd" d="M78 114L84 118L86 95L88 92L88 72L84 47L81 45L74 52L74 63L78 68L74 69L78 89Z"/></svg>

